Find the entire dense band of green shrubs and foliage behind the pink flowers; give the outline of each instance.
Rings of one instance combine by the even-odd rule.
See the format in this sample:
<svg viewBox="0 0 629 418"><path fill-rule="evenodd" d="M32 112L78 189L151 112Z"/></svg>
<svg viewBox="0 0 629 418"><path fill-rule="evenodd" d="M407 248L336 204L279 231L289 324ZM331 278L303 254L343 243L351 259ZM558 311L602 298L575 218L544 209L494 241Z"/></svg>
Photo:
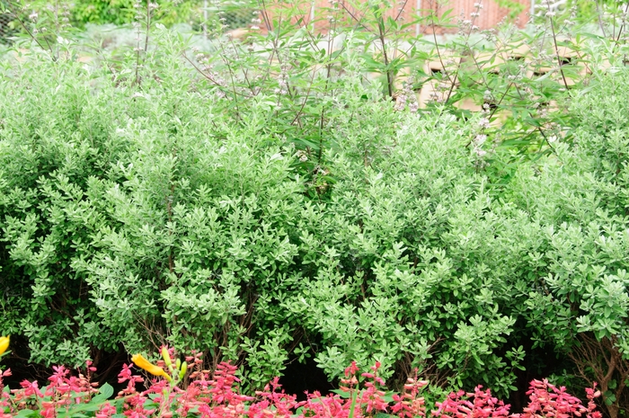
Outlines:
<svg viewBox="0 0 629 418"><path fill-rule="evenodd" d="M245 364L249 388L309 357L330 379L381 361L398 388L418 368L438 395L557 373L596 379L618 416L620 35L559 40L569 62L553 15L554 36L486 33L493 49L465 23L450 57L417 40L393 58L403 28L386 44L363 12L341 46L275 22L196 52L146 18L133 50L87 62L32 23L0 77L0 332L45 365L168 343ZM506 41L538 49L502 59Z"/></svg>

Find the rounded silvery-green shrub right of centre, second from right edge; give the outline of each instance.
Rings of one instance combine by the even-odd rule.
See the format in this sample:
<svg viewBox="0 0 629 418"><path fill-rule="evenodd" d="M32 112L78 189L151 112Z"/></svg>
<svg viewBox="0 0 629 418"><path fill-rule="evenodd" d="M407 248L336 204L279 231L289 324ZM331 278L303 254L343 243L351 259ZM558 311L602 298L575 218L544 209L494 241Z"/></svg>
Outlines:
<svg viewBox="0 0 629 418"><path fill-rule="evenodd" d="M344 102L371 127L368 103ZM469 125L403 115L386 135L380 118L368 136L377 146L339 129L332 199L300 218L306 289L287 306L321 335L316 360L328 373L376 358L394 366L387 378L423 365L435 381L474 376L508 391L524 355L507 344L524 303L505 277L526 252L518 219L475 173Z"/></svg>

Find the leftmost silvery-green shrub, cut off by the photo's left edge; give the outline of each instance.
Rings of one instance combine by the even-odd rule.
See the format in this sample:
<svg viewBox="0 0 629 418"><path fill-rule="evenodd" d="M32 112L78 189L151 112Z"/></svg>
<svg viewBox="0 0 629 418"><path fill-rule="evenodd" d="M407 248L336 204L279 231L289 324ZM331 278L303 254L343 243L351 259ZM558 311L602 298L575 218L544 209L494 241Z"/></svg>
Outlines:
<svg viewBox="0 0 629 418"><path fill-rule="evenodd" d="M71 262L102 222L86 191L125 152L110 137L124 110L111 107L116 92L100 89L102 79L69 61L29 67L4 67L1 87L3 330L25 337L35 362L75 365L96 347L116 346Z"/></svg>

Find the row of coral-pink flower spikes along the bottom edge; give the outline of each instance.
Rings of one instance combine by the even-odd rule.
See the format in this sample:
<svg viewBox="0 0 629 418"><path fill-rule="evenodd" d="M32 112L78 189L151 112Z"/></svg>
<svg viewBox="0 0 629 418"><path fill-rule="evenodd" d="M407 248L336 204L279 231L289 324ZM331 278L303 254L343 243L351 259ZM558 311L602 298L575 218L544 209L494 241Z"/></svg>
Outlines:
<svg viewBox="0 0 629 418"><path fill-rule="evenodd" d="M173 352L174 355L174 352ZM179 387L163 378L146 381L134 374L132 365L125 364L118 376L126 383L116 399L93 405L96 418L111 418L124 414L129 418L149 417L200 417L200 418L363 418L377 414L390 414L399 418L426 416L426 405L421 390L429 382L420 380L415 370L408 378L403 392L394 394L393 402L385 396L385 382L378 376L381 364L377 362L369 371L359 374L356 362L345 369L341 378L341 394L322 396L319 392L306 393L306 400L297 402L297 396L284 392L279 379L273 379L255 396L244 396L238 387L237 368L222 362L214 373L202 369L200 356L186 358L191 365L186 384ZM158 363L159 364L159 363ZM90 383L95 369L87 364L87 377L70 376L62 366L54 368L49 385L40 388L37 382L24 380L20 389L4 390L0 375L0 418L15 416L19 411L39 411L44 418L53 418L68 412L73 405L90 403L98 391ZM362 381L362 385L360 385ZM147 388L144 388L147 387ZM509 405L492 396L489 389L478 386L474 392L453 392L443 402L436 403L431 411L435 418L601 418L594 399L600 392L594 387L586 389L588 405L566 392L565 387L554 387L547 380L533 380L527 392L529 403L523 414L509 414ZM387 399L387 400L385 400ZM85 409L85 411L88 411ZM83 414L90 414L84 412Z"/></svg>

